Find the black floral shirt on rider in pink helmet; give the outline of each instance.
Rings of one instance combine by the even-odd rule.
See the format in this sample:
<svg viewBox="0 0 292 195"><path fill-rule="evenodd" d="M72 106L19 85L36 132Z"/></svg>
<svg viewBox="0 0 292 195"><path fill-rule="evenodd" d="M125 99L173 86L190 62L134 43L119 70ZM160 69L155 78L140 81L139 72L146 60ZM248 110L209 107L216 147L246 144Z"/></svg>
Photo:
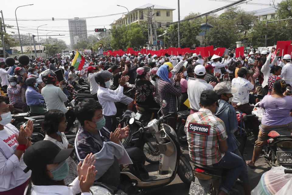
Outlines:
<svg viewBox="0 0 292 195"><path fill-rule="evenodd" d="M153 97L155 87L148 80L136 81L136 102L137 104L151 105L155 102Z"/></svg>

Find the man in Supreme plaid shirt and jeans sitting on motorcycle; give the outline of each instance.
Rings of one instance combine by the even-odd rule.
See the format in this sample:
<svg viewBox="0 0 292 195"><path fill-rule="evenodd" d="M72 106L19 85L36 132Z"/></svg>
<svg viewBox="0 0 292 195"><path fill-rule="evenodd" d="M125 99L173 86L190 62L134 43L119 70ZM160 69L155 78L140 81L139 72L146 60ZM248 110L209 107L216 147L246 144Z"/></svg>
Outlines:
<svg viewBox="0 0 292 195"><path fill-rule="evenodd" d="M196 163L214 168L228 168L219 195L227 194L241 173L244 161L228 152L224 122L213 115L218 106L218 95L204 90L200 96L199 112L188 116L185 131L190 158Z"/></svg>

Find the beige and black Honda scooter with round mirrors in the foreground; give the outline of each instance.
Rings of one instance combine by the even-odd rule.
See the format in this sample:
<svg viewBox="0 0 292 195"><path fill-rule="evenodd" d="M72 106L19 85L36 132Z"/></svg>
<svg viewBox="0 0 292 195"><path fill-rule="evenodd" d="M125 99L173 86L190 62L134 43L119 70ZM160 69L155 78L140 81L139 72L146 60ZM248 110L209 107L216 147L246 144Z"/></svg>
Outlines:
<svg viewBox="0 0 292 195"><path fill-rule="evenodd" d="M163 103L166 105L165 101ZM188 185L194 180L192 167L182 155L175 131L164 123L170 118L170 115L161 116L159 119L151 120L145 127L134 116L130 117L130 124L141 124L141 127L134 135L149 131L155 138L161 154L159 157L159 170L148 172L144 165L145 155L143 151L137 147L126 149L133 162L131 165L121 165L120 167L120 182L123 191L126 193L143 193L147 189L165 186L172 182L176 173Z"/></svg>

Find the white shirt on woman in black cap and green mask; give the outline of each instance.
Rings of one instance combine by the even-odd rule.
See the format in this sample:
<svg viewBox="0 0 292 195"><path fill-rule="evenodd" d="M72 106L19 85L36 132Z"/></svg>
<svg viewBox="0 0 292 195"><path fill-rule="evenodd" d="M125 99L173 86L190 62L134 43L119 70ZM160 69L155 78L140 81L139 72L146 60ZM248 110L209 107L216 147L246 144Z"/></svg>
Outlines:
<svg viewBox="0 0 292 195"><path fill-rule="evenodd" d="M30 195L75 195L80 192L79 180L76 178L69 186L35 186L32 184ZM24 194L26 194L26 191ZM89 192L81 194L90 195Z"/></svg>

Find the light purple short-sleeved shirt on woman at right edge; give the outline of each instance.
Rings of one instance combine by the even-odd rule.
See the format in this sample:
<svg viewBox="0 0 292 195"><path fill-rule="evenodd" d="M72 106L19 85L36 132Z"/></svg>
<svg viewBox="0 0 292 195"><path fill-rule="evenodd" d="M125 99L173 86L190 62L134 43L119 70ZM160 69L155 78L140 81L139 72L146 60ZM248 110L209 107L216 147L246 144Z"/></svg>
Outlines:
<svg viewBox="0 0 292 195"><path fill-rule="evenodd" d="M262 124L266 126L286 125L292 122L290 110L292 110L292 97L273 98L266 95L259 103L260 107L265 108L262 117Z"/></svg>

